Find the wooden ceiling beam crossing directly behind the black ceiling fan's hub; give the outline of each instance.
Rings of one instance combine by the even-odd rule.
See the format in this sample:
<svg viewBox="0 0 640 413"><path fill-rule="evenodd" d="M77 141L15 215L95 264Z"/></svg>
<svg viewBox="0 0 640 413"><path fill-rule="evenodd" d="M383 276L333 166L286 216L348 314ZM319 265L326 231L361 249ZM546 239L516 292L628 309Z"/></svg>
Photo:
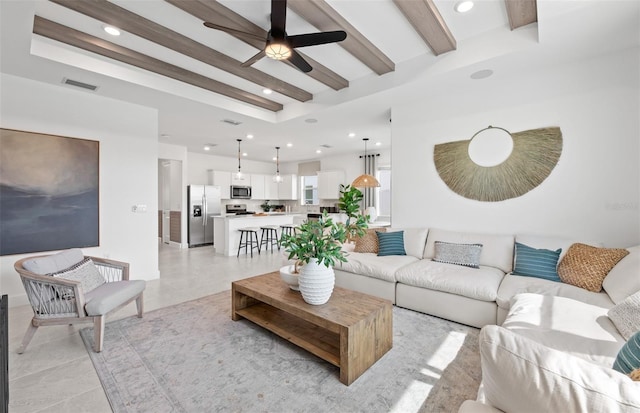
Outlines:
<svg viewBox="0 0 640 413"><path fill-rule="evenodd" d="M180 10L191 14L192 16L210 23L215 23L220 26L229 27L231 29L239 30L242 32L251 33L255 36L259 36L263 39L267 38L267 32L262 27L254 24L250 20L242 17L233 10L218 3L216 0L165 0L167 3L179 8ZM251 37L244 37L240 35L234 35L228 33L235 38L242 40L243 42L255 47L258 50L264 49L265 41L253 39ZM333 72L331 69L318 63L316 60L304 55L298 50L298 53L306 60L313 70L306 73L311 78L323 83L333 90L344 89L349 86L349 81ZM291 67L293 66L288 61L283 61ZM296 70L298 70L296 68Z"/></svg>

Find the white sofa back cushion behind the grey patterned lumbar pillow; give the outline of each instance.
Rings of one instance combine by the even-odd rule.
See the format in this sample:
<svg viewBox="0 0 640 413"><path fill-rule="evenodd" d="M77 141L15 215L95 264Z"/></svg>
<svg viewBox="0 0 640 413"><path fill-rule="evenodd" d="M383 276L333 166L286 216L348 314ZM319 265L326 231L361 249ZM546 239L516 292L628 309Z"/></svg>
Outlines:
<svg viewBox="0 0 640 413"><path fill-rule="evenodd" d="M513 268L513 235L476 234L431 228L424 248L424 258L433 259L436 241L482 244L481 266L499 268L503 273L511 272Z"/></svg>

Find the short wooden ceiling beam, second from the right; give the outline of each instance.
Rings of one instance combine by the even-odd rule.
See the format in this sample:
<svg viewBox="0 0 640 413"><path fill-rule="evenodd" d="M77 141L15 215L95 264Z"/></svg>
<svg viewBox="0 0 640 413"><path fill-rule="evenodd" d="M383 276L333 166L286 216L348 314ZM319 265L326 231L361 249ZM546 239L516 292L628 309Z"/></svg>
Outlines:
<svg viewBox="0 0 640 413"><path fill-rule="evenodd" d="M422 40L438 56L456 49L451 34L433 0L393 0Z"/></svg>

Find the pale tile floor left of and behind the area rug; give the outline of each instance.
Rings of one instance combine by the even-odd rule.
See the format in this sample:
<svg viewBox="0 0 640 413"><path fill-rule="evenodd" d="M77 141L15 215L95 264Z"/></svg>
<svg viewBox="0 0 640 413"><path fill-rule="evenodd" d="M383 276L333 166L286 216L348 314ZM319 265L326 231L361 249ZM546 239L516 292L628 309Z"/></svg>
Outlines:
<svg viewBox="0 0 640 413"><path fill-rule="evenodd" d="M161 276L147 282L145 312L229 290L232 281L277 270L284 257L278 252L224 257L213 247L160 244L159 260ZM131 303L110 320L135 313ZM41 327L24 354L17 354L32 316L29 306L9 309L9 412L111 412L78 334L90 324Z"/></svg>

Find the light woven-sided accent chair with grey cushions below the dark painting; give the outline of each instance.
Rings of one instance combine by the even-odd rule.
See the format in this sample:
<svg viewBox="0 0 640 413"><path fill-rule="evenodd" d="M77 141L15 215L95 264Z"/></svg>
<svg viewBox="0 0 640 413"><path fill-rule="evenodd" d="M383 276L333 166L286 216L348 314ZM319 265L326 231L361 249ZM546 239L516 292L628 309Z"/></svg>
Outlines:
<svg viewBox="0 0 640 413"><path fill-rule="evenodd" d="M81 255L82 253L79 252ZM52 256L27 257L17 261L15 270L33 309L33 318L22 339L22 354L40 326L93 323L94 351L102 351L104 322L108 314L136 301L138 317L143 313L143 280L129 280L129 264L98 257L90 258L106 281L85 293L81 281L38 274L24 267L26 261Z"/></svg>

